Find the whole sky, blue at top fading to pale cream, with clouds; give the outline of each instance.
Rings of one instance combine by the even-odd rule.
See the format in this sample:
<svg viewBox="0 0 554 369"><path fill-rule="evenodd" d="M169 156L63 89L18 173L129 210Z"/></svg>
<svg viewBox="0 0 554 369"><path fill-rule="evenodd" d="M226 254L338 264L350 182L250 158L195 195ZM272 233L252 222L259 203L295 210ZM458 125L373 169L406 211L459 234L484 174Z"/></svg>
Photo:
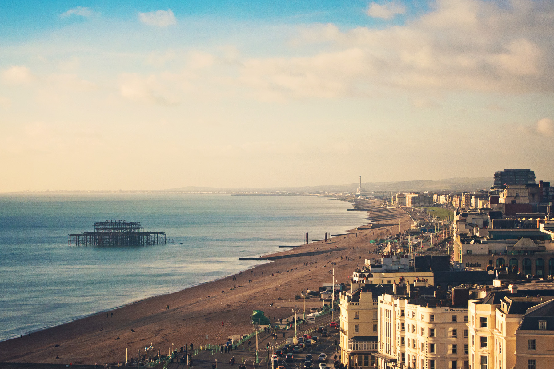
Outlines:
<svg viewBox="0 0 554 369"><path fill-rule="evenodd" d="M0 2L0 192L554 180L552 1Z"/></svg>

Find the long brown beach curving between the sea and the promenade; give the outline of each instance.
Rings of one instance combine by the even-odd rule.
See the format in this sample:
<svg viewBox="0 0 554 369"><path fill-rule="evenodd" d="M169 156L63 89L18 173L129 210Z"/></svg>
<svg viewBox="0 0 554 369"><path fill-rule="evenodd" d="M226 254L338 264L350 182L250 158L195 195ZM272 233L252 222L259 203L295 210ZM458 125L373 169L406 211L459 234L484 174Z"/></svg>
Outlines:
<svg viewBox="0 0 554 369"><path fill-rule="evenodd" d="M274 317L290 316L290 306L294 306L295 295L302 289L317 290L322 282L331 283L333 268L336 282L347 282L353 269L371 256L375 244L370 240L387 235L391 228L393 235L398 233L399 222L401 231L411 226L406 212L381 204L381 201L356 201L356 209L367 211L368 217L375 222L370 229L350 230L357 233L357 237L336 236L327 242L310 242L267 256L316 254L276 259L246 271L237 270L235 280L229 276L0 342L0 361L118 362L125 361L126 348L130 357L136 357L137 350L151 342L155 348L161 347L166 352L172 344L176 347L206 344L205 335L209 335L209 344L220 344L229 335L249 334L252 310L263 310L271 321ZM331 262L336 265L331 266ZM273 306L269 306L270 303ZM301 306L302 300L296 303ZM306 303L307 306L323 304L316 299L306 300Z"/></svg>

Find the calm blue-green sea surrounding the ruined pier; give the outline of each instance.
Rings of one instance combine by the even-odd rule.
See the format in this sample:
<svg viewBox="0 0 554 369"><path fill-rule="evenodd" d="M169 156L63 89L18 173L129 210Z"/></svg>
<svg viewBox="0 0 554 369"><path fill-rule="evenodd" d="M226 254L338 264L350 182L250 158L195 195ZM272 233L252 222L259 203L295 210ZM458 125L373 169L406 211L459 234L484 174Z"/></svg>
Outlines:
<svg viewBox="0 0 554 369"><path fill-rule="evenodd" d="M253 265L239 257L361 225L350 204L305 196L0 195L0 340L175 292ZM183 245L68 247L125 219ZM283 249L280 249L283 250Z"/></svg>

